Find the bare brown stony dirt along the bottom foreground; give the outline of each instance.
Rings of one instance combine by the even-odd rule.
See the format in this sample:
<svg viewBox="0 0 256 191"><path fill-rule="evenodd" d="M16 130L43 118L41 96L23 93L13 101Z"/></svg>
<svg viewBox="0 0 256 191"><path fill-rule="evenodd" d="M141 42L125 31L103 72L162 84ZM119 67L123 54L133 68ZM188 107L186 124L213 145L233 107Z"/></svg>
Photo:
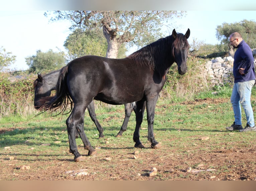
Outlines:
<svg viewBox="0 0 256 191"><path fill-rule="evenodd" d="M186 104L202 101L216 103L216 100L204 99ZM6 130L12 129L2 129L1 133ZM73 155L67 152L67 144L67 150L60 156L28 154L27 161L19 160L18 155L13 160L1 158L4 168L1 169L0 180L256 180L255 142L247 147L234 144L220 148L199 152L197 145L191 144L186 153L175 154L175 148L167 153L165 149L135 149L132 145L117 148L111 145L96 156L87 156L80 146L79 150L86 160L76 163L73 162ZM40 155L44 156L43 160ZM153 167L157 169L156 175L150 173Z"/></svg>

